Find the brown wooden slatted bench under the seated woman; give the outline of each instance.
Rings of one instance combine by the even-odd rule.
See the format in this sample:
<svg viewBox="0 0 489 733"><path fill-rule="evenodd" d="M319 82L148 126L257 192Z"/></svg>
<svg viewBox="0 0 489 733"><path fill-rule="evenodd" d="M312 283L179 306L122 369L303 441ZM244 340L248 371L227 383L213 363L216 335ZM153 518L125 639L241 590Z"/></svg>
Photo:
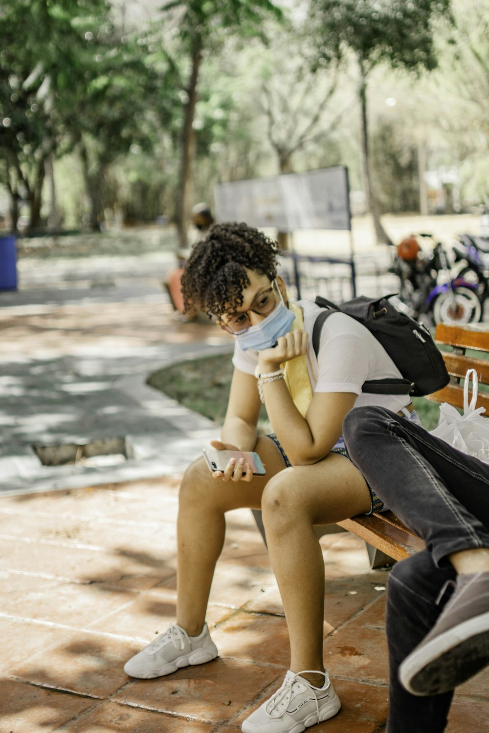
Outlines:
<svg viewBox="0 0 489 733"><path fill-rule="evenodd" d="M450 383L444 389L424 399L449 402L450 405L463 408L463 385L460 385L460 380L465 377L467 369L476 369L479 385L489 385L489 361L466 356L466 350L489 353L489 325L484 328L482 325L462 327L439 323L435 331L435 342L451 349L443 352ZM477 407L484 407L489 416L489 393L484 394L479 391ZM254 511L253 514L262 537L265 539L261 512ZM365 540L371 567L380 567L394 560L402 560L424 548L422 539L411 532L392 512L369 516L360 515L339 522L338 526L315 527L317 537L338 530L347 530Z"/></svg>

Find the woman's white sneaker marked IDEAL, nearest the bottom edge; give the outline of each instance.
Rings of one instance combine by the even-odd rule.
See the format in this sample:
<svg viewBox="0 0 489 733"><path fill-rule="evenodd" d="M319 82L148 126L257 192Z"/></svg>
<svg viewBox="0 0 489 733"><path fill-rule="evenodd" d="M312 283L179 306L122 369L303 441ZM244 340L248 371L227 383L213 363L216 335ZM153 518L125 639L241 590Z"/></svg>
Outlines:
<svg viewBox="0 0 489 733"><path fill-rule="evenodd" d="M304 677L304 670L288 671L282 687L243 722L244 733L301 733L307 726L327 721L336 715L341 703L326 672L322 688L315 688Z"/></svg>

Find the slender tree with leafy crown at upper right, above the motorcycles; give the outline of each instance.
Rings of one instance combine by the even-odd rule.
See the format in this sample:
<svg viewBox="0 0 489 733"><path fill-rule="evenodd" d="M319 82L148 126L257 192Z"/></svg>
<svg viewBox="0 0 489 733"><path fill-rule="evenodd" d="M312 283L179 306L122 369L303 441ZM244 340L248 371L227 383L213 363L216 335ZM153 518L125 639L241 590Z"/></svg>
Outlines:
<svg viewBox="0 0 489 733"><path fill-rule="evenodd" d="M367 80L385 62L419 73L437 65L433 21L450 16L450 0L311 0L310 13L323 62L353 54L358 67L364 187L378 242L389 242L372 187L367 127Z"/></svg>

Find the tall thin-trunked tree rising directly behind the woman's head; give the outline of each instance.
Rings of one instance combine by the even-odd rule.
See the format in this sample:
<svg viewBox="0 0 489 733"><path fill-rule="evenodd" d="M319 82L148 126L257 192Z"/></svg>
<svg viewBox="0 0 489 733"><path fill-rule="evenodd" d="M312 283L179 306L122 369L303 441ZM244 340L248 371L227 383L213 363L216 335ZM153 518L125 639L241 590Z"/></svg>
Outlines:
<svg viewBox="0 0 489 733"><path fill-rule="evenodd" d="M169 55L174 70L181 69L177 58L185 54L185 68L180 75L183 125L180 144L180 177L177 194L177 229L179 246L187 246L187 226L191 206L192 163L196 152L194 120L202 59L216 51L232 34L243 38L262 35L262 23L268 15L282 18L271 0L171 0L163 6L171 18L177 40L176 54Z"/></svg>

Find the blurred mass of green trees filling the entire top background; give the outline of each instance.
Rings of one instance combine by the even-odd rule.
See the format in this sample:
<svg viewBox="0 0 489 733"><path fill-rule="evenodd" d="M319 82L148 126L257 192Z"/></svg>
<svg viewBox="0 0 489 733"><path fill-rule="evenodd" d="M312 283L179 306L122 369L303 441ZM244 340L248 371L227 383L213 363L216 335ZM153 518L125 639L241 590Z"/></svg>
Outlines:
<svg viewBox="0 0 489 733"><path fill-rule="evenodd" d="M53 159L70 226L176 210L181 241L217 181L277 169L347 164L379 223L415 205L416 151L428 169L457 168L471 204L488 199L489 0L452 0L455 23L438 20L448 0L173 0L130 27L124 7L1 2L0 185L14 222L19 202L37 227L41 192L43 216L56 200Z"/></svg>

